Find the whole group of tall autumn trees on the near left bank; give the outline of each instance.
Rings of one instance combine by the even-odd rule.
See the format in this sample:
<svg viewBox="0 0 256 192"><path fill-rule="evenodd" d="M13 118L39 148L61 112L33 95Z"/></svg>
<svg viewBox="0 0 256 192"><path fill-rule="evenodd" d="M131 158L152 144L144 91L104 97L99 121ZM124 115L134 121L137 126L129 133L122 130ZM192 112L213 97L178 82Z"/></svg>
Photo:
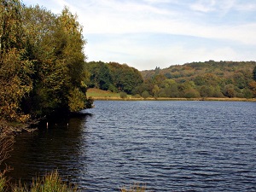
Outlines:
<svg viewBox="0 0 256 192"><path fill-rule="evenodd" d="M90 108L85 95L83 27L64 8L55 15L19 0L0 4L0 117L24 122Z"/></svg>

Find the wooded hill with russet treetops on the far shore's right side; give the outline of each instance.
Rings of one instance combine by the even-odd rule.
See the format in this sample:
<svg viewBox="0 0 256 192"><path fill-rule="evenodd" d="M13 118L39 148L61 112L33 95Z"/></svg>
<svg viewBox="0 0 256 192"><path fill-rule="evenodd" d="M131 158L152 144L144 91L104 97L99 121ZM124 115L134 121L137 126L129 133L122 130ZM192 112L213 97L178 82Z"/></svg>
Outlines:
<svg viewBox="0 0 256 192"><path fill-rule="evenodd" d="M205 61L143 71L138 96L256 97L255 61Z"/></svg>

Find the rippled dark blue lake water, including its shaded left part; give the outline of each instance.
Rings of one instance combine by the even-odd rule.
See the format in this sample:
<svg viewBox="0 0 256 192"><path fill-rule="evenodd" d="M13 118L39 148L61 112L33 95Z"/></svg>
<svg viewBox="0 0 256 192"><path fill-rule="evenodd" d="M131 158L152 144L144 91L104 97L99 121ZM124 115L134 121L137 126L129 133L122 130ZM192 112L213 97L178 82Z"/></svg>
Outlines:
<svg viewBox="0 0 256 192"><path fill-rule="evenodd" d="M256 102L95 105L18 137L10 175L58 169L82 191L256 191Z"/></svg>

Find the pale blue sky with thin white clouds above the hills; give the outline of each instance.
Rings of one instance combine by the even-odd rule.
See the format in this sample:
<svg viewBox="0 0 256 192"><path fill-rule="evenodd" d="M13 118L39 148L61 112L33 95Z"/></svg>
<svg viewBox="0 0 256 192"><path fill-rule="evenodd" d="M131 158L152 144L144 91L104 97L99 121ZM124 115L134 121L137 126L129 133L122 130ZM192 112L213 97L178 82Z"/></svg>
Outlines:
<svg viewBox="0 0 256 192"><path fill-rule="evenodd" d="M255 0L23 0L84 26L87 61L138 70L192 61L256 61Z"/></svg>

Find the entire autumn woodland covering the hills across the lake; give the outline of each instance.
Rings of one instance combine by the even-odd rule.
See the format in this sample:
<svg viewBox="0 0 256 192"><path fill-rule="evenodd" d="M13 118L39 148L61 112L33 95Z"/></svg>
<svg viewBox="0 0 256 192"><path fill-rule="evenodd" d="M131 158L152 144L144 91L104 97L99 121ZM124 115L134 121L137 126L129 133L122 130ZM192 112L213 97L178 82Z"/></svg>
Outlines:
<svg viewBox="0 0 256 192"><path fill-rule="evenodd" d="M88 63L90 87L134 97L256 97L255 61L205 61L139 73L118 63Z"/></svg>

